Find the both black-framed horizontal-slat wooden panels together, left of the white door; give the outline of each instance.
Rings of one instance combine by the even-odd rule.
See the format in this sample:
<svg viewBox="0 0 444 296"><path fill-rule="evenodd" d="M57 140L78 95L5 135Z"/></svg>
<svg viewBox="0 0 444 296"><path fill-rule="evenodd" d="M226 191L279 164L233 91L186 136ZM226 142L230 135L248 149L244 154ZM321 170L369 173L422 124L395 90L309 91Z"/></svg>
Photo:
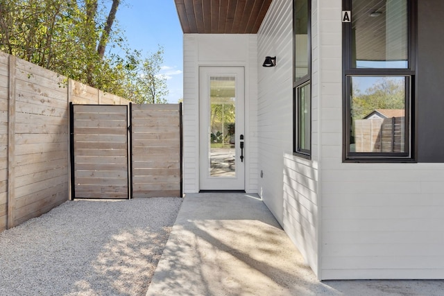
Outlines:
<svg viewBox="0 0 444 296"><path fill-rule="evenodd" d="M182 196L181 107L71 104L71 199Z"/></svg>

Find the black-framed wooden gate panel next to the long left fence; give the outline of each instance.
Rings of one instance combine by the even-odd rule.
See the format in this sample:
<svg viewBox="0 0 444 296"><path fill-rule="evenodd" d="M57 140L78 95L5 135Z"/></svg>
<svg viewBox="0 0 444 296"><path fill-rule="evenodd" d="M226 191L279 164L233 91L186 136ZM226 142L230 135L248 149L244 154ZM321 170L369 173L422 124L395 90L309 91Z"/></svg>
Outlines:
<svg viewBox="0 0 444 296"><path fill-rule="evenodd" d="M71 125L72 197L128 198L128 107L72 105Z"/></svg>

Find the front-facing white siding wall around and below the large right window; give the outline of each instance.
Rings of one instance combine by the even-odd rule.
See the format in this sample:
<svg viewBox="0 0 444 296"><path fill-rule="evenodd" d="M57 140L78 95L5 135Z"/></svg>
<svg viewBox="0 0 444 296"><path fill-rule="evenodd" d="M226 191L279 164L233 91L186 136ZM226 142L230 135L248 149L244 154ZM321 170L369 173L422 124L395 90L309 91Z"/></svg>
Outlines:
<svg viewBox="0 0 444 296"><path fill-rule="evenodd" d="M444 164L342 163L341 0L321 20L321 279L443 279Z"/></svg>

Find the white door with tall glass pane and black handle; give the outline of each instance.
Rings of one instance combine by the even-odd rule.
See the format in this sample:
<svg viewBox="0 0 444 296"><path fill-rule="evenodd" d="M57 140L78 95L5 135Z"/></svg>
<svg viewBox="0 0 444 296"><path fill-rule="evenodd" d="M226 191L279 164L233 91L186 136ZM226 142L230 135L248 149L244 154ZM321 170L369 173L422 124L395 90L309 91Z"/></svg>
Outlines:
<svg viewBox="0 0 444 296"><path fill-rule="evenodd" d="M200 190L245 190L244 67L200 67Z"/></svg>

